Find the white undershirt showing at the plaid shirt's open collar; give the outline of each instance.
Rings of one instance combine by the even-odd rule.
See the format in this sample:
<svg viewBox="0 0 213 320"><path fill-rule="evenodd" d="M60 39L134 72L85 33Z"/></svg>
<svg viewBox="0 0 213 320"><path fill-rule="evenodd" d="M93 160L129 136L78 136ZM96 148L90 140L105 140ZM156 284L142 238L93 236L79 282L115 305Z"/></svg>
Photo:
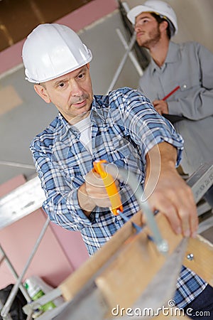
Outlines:
<svg viewBox="0 0 213 320"><path fill-rule="evenodd" d="M92 133L90 117L82 119L80 122L75 123L73 127L80 131L80 142L92 154Z"/></svg>

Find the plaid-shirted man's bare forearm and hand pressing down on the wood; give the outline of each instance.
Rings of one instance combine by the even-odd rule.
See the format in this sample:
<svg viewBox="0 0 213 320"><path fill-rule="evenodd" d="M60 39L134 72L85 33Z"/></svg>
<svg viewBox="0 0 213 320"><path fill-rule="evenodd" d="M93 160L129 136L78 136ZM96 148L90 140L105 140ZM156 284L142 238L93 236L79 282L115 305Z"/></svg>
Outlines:
<svg viewBox="0 0 213 320"><path fill-rule="evenodd" d="M152 210L163 213L175 233L194 236L197 210L192 190L175 169L177 151L163 142L148 152L145 195Z"/></svg>

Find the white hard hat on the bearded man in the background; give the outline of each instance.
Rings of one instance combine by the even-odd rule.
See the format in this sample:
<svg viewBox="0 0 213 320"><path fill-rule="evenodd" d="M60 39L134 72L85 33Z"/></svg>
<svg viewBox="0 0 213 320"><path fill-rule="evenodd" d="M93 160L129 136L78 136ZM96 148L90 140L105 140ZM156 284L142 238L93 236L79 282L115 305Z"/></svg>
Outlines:
<svg viewBox="0 0 213 320"><path fill-rule="evenodd" d="M148 0L144 2L143 6L135 6L131 9L127 14L127 18L129 18L132 24L135 24L136 16L142 14L142 12L153 12L154 14L162 16L162 18L168 18L169 25L170 22L173 23L172 28L170 25L171 36L178 33L177 16L173 8L166 2L160 0ZM174 28L175 30L173 30Z"/></svg>

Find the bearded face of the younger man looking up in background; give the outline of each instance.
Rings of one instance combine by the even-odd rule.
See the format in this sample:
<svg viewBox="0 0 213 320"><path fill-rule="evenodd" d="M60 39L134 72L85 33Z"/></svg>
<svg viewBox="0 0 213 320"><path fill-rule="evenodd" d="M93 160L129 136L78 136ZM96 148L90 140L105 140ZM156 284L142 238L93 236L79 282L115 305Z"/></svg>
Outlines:
<svg viewBox="0 0 213 320"><path fill-rule="evenodd" d="M143 12L136 16L135 31L139 46L150 49L160 40L158 22L148 12Z"/></svg>

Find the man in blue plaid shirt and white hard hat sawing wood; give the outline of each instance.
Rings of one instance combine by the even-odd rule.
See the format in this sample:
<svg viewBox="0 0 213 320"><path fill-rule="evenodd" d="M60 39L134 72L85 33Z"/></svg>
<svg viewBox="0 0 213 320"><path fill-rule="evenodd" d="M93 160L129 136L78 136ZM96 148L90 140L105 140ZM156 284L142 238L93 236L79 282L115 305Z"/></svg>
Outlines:
<svg viewBox="0 0 213 320"><path fill-rule="evenodd" d="M91 51L77 34L57 23L38 26L23 45L26 79L59 111L31 143L45 212L63 228L79 230L89 255L104 245L124 225L121 216L109 210L102 179L92 170L93 161L104 159L136 175L136 184L146 186L151 208L168 217L175 233L195 236L192 191L175 169L182 137L137 90L124 87L107 96L93 95L91 60ZM134 193L124 182L116 184L124 215L131 218L139 211ZM184 269L178 297L189 302L204 287L202 279Z"/></svg>

